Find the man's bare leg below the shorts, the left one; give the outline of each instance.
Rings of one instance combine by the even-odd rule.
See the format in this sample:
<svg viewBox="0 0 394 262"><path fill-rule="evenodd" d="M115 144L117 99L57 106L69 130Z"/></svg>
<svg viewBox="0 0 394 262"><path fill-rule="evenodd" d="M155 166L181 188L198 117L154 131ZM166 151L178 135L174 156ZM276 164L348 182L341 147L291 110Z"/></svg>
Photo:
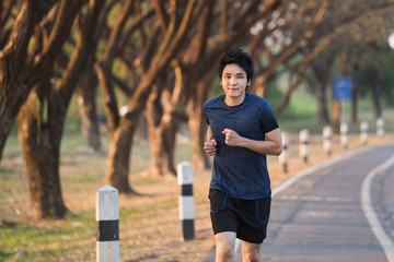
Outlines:
<svg viewBox="0 0 394 262"><path fill-rule="evenodd" d="M232 262L234 260L236 234L223 231L215 235L216 262Z"/></svg>

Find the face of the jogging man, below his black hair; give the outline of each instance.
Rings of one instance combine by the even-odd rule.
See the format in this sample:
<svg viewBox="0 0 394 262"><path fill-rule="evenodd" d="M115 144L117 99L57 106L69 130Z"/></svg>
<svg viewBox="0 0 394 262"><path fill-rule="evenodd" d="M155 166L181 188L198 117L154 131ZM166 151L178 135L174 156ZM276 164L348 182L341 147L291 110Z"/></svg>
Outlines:
<svg viewBox="0 0 394 262"><path fill-rule="evenodd" d="M230 63L223 69L220 84L223 87L225 99L242 103L245 97L245 90L251 81L247 81L245 70L236 63Z"/></svg>

